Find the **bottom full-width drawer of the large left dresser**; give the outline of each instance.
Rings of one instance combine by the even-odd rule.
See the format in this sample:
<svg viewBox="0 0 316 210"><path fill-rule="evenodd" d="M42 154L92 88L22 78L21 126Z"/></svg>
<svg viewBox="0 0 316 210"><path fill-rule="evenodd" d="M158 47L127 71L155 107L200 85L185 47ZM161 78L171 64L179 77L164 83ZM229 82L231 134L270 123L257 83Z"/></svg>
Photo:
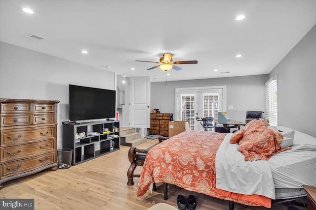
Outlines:
<svg viewBox="0 0 316 210"><path fill-rule="evenodd" d="M56 162L54 158L55 158L54 152L50 152L50 153L42 154L36 157L24 159L24 160L18 160L14 162L1 164L0 179L15 175L15 174L32 171L34 169L39 168L40 166L54 163Z"/></svg>

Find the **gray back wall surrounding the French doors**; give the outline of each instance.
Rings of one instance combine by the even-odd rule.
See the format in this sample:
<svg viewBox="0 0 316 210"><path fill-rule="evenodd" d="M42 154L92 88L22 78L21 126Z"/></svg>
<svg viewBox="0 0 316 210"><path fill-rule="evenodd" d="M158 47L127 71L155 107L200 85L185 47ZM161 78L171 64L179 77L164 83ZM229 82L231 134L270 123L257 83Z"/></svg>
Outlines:
<svg viewBox="0 0 316 210"><path fill-rule="evenodd" d="M246 111L265 111L265 83L268 75L226 77L151 83L151 109L175 114L175 89L190 87L226 86L227 115L232 120L244 121ZM227 108L227 107L226 107Z"/></svg>

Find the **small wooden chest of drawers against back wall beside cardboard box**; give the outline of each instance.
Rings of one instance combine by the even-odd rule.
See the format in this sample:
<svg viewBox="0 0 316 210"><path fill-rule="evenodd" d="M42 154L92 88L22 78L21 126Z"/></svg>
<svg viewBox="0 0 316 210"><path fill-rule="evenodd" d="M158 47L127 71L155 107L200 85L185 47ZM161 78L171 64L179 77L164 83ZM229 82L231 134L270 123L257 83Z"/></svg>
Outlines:
<svg viewBox="0 0 316 210"><path fill-rule="evenodd" d="M173 114L151 113L149 133L168 137L169 121L171 120L173 120Z"/></svg>

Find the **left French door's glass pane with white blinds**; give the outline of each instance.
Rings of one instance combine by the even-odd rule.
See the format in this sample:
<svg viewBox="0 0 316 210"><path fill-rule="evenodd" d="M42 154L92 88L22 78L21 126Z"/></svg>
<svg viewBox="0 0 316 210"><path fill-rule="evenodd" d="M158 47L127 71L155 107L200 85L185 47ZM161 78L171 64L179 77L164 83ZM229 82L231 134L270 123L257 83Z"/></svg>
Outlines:
<svg viewBox="0 0 316 210"><path fill-rule="evenodd" d="M195 128L195 93L181 94L181 121L189 121L190 130Z"/></svg>

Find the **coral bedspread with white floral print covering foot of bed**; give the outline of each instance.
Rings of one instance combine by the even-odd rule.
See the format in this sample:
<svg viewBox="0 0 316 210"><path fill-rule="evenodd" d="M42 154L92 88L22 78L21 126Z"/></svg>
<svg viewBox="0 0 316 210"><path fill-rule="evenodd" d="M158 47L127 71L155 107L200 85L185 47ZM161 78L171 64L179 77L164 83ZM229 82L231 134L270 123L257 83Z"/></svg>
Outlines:
<svg viewBox="0 0 316 210"><path fill-rule="evenodd" d="M215 155L225 135L185 131L152 148L146 156L137 196L144 195L152 182L166 182L248 206L271 208L270 198L216 189Z"/></svg>

